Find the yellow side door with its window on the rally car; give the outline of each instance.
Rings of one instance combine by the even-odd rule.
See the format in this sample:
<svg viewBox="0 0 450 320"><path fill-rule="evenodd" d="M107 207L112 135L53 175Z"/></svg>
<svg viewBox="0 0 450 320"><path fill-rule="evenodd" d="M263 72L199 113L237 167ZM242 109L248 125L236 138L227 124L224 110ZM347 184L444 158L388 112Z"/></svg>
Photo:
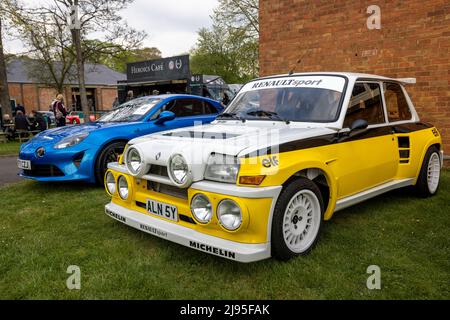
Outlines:
<svg viewBox="0 0 450 320"><path fill-rule="evenodd" d="M350 130L365 121L367 128ZM398 147L385 117L381 84L357 82L336 146L334 171L338 199L392 180L398 169Z"/></svg>

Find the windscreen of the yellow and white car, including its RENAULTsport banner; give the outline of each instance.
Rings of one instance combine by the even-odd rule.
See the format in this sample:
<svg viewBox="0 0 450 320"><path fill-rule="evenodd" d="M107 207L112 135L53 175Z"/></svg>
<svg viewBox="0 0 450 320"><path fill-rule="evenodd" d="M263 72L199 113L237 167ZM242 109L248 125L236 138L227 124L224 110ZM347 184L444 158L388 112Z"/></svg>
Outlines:
<svg viewBox="0 0 450 320"><path fill-rule="evenodd" d="M224 117L246 120L334 122L345 79L336 76L291 76L246 84Z"/></svg>

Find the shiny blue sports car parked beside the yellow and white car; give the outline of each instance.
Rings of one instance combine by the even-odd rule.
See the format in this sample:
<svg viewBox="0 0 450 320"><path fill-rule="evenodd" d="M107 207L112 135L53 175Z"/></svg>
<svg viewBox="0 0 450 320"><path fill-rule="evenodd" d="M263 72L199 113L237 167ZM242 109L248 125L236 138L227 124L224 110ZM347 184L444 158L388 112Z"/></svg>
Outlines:
<svg viewBox="0 0 450 320"><path fill-rule="evenodd" d="M192 95L137 98L97 122L44 131L24 143L17 160L19 175L38 181L102 183L107 164L117 161L126 143L138 136L209 123L222 105Z"/></svg>

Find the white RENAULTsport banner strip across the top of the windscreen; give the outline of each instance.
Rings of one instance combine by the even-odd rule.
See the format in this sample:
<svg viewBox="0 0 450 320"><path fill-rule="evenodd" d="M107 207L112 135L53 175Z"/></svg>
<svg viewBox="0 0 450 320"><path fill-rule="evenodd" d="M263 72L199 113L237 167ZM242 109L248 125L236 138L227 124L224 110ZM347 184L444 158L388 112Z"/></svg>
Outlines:
<svg viewBox="0 0 450 320"><path fill-rule="evenodd" d="M241 92L271 88L317 88L344 91L345 79L342 77L299 76L253 81L244 86Z"/></svg>

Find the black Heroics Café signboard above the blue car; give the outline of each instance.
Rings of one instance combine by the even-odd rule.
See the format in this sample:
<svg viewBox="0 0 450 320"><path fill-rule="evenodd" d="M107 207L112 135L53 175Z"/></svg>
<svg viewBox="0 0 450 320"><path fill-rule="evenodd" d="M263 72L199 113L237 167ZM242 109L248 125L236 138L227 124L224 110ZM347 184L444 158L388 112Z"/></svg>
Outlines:
<svg viewBox="0 0 450 320"><path fill-rule="evenodd" d="M127 64L128 82L188 79L189 55Z"/></svg>

